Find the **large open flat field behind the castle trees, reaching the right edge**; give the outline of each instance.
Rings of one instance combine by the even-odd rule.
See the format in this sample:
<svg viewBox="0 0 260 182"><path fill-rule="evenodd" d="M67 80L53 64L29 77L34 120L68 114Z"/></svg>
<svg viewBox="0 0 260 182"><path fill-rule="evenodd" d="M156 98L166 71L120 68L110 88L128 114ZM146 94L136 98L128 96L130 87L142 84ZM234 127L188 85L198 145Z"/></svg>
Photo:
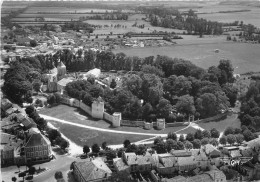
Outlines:
<svg viewBox="0 0 260 182"><path fill-rule="evenodd" d="M260 70L260 45L249 43L233 43L233 42L207 42L179 44L169 47L145 47L145 48L126 48L113 50L114 53L123 52L127 56L157 56L165 55L172 58L183 58L190 60L197 66L204 69L210 66L216 66L221 59L229 59L232 61L234 72L241 74L246 72L258 72ZM219 49L219 53L214 50Z"/></svg>

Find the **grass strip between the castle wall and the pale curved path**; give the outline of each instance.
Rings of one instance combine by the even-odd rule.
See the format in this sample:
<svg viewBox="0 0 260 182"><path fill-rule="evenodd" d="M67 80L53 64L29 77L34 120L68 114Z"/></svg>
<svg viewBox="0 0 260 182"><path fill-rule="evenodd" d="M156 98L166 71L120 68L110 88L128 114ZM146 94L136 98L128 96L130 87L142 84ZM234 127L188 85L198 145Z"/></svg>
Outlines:
<svg viewBox="0 0 260 182"><path fill-rule="evenodd" d="M139 132L139 133L156 133L156 134L167 134L170 131L177 131L185 126L181 127L171 127L165 128L164 130L144 130L141 127L119 127L119 128L111 128L110 124L104 120L93 119L87 114L85 114L82 110L70 107L67 105L58 105L52 108L45 108L40 110L39 114L44 114L47 116L52 116L58 119L63 119L66 121L70 121L72 123L83 124L87 126L93 126L98 128L105 128L111 130L120 130L120 131L131 131L131 132Z"/></svg>

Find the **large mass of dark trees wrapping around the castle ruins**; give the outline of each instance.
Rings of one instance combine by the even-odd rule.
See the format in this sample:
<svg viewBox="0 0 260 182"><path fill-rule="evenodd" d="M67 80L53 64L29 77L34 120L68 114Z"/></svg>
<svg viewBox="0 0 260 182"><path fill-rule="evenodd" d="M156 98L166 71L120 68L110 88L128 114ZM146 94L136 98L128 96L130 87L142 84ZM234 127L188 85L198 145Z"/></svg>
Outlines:
<svg viewBox="0 0 260 182"><path fill-rule="evenodd" d="M167 122L183 121L189 115L206 118L225 111L237 99L229 60L221 60L217 67L204 70L190 61L167 56L139 58L91 50L79 50L74 55L67 49L53 56L37 55L13 63L5 74L3 91L16 103L28 100L32 88L37 90L40 82L46 82L41 73L57 66L59 57L70 71L92 68L131 71L122 77L122 87L116 90L95 84L94 78L72 82L66 87L70 97L87 105L99 96L104 98L107 112L122 112L124 118L151 121L163 117ZM58 94L48 98L49 104L59 101Z"/></svg>

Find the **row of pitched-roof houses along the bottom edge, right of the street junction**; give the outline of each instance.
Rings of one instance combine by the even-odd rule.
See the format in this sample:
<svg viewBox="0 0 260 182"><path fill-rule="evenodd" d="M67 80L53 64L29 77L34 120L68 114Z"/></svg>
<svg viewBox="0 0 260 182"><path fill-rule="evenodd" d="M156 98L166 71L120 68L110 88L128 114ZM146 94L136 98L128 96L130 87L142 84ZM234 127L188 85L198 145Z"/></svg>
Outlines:
<svg viewBox="0 0 260 182"><path fill-rule="evenodd" d="M258 162L253 164L248 156L255 155L258 157ZM248 160L232 166L231 161L238 157L242 157L241 159L248 157ZM79 182L111 181L112 171L101 158L75 162L73 165L74 175ZM123 152L122 157L113 159L113 169L116 173L130 176L149 174L150 181L156 182L225 182L226 176L219 170L225 166L238 171L242 181L259 180L260 138L241 147L217 149L207 144L200 149L172 150L164 154L147 152L144 155L136 155ZM192 173L193 175L187 175ZM143 178L139 181L147 180Z"/></svg>

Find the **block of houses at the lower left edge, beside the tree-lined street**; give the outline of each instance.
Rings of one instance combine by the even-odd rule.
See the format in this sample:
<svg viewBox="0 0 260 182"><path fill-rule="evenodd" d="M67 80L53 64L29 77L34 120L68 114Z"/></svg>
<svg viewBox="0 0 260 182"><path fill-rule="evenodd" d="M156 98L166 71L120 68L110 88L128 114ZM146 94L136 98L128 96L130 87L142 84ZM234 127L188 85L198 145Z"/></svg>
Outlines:
<svg viewBox="0 0 260 182"><path fill-rule="evenodd" d="M51 143L19 106L7 99L1 101L1 164L25 165L50 161Z"/></svg>

